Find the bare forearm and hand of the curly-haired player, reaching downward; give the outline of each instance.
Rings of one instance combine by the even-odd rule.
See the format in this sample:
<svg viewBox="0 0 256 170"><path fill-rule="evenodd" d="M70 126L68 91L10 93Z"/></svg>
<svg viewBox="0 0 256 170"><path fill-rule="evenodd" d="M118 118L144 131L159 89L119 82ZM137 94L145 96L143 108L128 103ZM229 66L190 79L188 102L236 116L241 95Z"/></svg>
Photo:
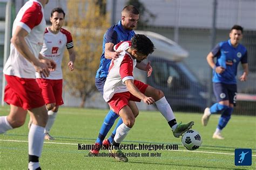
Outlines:
<svg viewBox="0 0 256 170"><path fill-rule="evenodd" d="M134 85L134 81L132 79L125 80L124 83L127 87L127 90L129 90L133 96L138 97L140 100L143 100L143 102L146 104L154 103L154 99L152 97L147 97L139 91L139 89Z"/></svg>

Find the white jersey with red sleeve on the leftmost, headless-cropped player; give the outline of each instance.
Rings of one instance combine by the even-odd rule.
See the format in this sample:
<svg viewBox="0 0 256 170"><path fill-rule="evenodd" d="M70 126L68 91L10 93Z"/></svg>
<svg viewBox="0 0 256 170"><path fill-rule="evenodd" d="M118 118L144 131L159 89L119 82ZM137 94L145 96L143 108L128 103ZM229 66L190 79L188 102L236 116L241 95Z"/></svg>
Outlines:
<svg viewBox="0 0 256 170"><path fill-rule="evenodd" d="M25 37L30 51L38 58L43 46L43 36L46 27L43 5L37 0L30 0L19 10L12 27L12 36L17 29L22 27L29 34ZM35 68L15 48L10 45L10 55L5 63L4 74L14 75L21 78L35 79Z"/></svg>

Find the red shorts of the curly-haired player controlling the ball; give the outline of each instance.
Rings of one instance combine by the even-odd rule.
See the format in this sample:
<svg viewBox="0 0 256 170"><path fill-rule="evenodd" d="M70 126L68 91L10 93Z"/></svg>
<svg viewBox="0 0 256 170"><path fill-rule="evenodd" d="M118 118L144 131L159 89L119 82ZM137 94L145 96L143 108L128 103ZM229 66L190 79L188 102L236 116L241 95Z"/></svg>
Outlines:
<svg viewBox="0 0 256 170"><path fill-rule="evenodd" d="M141 93L145 93L146 88L149 86L141 81L134 80L134 85L139 89ZM118 113L119 111L128 105L129 101L134 101L134 102L140 102L141 100L138 97L133 96L130 91L125 91L123 93L116 93L113 95L111 100L108 102L113 108L113 110Z"/></svg>

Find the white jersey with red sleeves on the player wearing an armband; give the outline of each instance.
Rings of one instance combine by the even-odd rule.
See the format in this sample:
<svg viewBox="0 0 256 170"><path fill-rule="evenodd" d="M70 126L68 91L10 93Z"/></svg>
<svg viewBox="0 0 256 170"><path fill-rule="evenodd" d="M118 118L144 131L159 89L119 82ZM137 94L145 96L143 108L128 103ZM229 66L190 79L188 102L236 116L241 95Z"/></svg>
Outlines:
<svg viewBox="0 0 256 170"><path fill-rule="evenodd" d="M44 33L44 45L40 53L45 58L55 61L57 67L54 72L50 73L49 77L44 79L62 79L62 59L65 48L73 48L71 33L65 29L60 29L57 34L54 34L47 27ZM36 73L36 77L41 78L39 73Z"/></svg>

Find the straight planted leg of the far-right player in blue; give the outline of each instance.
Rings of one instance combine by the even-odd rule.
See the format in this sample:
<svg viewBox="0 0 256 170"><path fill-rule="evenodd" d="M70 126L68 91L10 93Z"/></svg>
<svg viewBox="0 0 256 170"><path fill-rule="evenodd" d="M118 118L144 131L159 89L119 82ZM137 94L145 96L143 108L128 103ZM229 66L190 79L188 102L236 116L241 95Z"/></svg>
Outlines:
<svg viewBox="0 0 256 170"><path fill-rule="evenodd" d="M227 125L228 121L230 121L234 104L236 102L236 95L237 95L237 85L236 84L229 84L227 86L227 91L228 91L228 108L223 111L219 118L219 123L218 126L213 133L213 138L215 139L224 139L224 137L221 135L221 131L225 128Z"/></svg>

